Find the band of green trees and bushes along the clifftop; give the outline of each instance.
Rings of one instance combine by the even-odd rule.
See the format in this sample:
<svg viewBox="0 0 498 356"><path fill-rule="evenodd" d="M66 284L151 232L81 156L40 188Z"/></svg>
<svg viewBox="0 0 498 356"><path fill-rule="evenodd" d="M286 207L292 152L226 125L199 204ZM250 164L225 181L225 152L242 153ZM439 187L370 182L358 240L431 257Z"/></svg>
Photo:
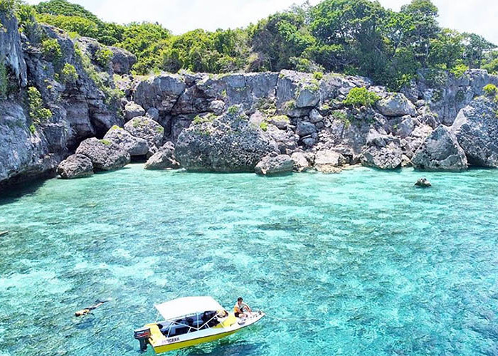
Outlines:
<svg viewBox="0 0 498 356"><path fill-rule="evenodd" d="M197 29L179 36L159 23L106 23L65 0L33 9L40 22L131 51L137 56L137 74L287 68L366 75L397 89L419 68L450 70L457 76L467 68L498 70L494 44L474 33L441 28L430 0L413 0L398 12L377 1L324 0L316 6L292 6L247 28Z"/></svg>

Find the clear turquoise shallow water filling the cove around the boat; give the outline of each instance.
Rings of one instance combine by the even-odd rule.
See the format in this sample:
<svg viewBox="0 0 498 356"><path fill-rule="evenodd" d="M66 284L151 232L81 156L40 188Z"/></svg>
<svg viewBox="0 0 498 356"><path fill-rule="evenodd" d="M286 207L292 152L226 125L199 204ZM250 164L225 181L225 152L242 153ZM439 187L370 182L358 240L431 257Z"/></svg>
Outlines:
<svg viewBox="0 0 498 356"><path fill-rule="evenodd" d="M171 355L498 355L498 171L420 175L134 164L4 194L0 355L140 355L184 295L269 316Z"/></svg>

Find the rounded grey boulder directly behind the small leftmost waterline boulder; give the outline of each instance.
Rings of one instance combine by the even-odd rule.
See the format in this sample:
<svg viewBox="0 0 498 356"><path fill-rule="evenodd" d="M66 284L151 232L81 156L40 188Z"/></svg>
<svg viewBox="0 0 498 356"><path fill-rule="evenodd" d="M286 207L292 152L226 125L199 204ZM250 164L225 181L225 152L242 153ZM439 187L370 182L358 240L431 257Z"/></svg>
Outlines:
<svg viewBox="0 0 498 356"><path fill-rule="evenodd" d="M95 137L81 142L76 153L90 158L94 169L104 171L124 167L130 160L128 152L112 145L110 141L97 140Z"/></svg>

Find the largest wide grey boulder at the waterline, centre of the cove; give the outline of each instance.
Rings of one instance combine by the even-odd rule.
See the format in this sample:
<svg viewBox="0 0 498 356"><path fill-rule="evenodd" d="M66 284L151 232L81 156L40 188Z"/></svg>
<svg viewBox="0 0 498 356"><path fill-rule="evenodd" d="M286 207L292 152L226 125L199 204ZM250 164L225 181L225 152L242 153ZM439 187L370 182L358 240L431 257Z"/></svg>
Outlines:
<svg viewBox="0 0 498 356"><path fill-rule="evenodd" d="M190 171L254 172L263 157L277 152L277 144L242 111L211 122L192 123L178 137L175 156Z"/></svg>

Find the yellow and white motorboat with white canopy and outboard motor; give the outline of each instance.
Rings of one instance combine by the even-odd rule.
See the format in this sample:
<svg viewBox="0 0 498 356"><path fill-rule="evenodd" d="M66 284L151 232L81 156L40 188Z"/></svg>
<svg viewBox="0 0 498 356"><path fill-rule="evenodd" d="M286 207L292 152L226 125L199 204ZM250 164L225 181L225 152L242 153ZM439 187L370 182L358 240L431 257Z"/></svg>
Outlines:
<svg viewBox="0 0 498 356"><path fill-rule="evenodd" d="M155 305L164 321L134 330L140 349L151 345L156 353L177 350L221 339L253 325L263 312L237 318L211 297L186 297Z"/></svg>

